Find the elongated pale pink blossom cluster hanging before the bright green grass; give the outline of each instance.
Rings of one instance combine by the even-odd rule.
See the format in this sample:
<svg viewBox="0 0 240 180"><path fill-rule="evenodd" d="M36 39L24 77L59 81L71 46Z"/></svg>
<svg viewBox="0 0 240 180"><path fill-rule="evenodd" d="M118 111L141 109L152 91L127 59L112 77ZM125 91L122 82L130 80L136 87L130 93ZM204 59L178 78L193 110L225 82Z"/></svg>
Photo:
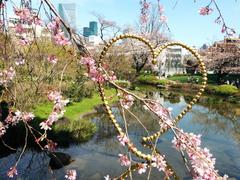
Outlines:
<svg viewBox="0 0 240 180"><path fill-rule="evenodd" d="M48 119L40 123L41 129L44 129L45 131L51 130L53 123L63 116L65 112L64 107L69 102L68 99L64 100L61 93L57 91L51 91L48 94L48 99L53 101L54 107Z"/></svg>

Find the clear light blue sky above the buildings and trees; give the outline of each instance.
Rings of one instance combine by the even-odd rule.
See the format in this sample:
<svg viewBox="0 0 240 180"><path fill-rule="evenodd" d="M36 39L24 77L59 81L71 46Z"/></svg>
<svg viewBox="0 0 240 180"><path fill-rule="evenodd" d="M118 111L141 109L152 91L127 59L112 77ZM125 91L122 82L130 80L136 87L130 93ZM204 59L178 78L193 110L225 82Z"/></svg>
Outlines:
<svg viewBox="0 0 240 180"><path fill-rule="evenodd" d="M37 3L39 0L32 0ZM135 25L139 19L139 0L52 0L56 7L58 3L75 2L77 6L77 28L88 26L89 21L96 21L92 12L101 14L107 20L115 21L118 25ZM157 0L151 0L152 5ZM176 4L177 2L177 4ZM210 0L160 0L168 17L172 39L191 46L200 47L202 44L212 44L222 40L221 26L214 23L217 11L208 16L199 15L200 7L206 6ZM216 0L225 18L226 24L240 33L240 1Z"/></svg>

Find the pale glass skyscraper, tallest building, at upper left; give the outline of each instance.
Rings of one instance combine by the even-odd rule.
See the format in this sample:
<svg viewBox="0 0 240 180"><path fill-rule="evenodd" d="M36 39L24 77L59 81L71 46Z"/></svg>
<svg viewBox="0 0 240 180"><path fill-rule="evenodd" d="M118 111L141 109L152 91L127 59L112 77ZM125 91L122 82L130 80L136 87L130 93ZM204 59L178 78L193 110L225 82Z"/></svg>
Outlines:
<svg viewBox="0 0 240 180"><path fill-rule="evenodd" d="M60 3L58 11L65 22L67 22L73 29L76 29L76 4L75 3Z"/></svg>

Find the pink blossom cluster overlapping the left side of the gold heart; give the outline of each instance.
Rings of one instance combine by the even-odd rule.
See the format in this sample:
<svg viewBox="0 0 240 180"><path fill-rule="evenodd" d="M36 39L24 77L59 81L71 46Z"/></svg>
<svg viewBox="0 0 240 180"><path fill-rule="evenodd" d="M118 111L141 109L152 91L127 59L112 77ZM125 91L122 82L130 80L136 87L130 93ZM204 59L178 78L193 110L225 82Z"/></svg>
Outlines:
<svg viewBox="0 0 240 180"><path fill-rule="evenodd" d="M94 82L103 83L105 81L116 80L116 76L114 75L113 71L110 71L109 74L106 75L103 73L102 68L98 68L96 66L95 60L91 57L82 57L80 63L87 67L88 73L86 75Z"/></svg>

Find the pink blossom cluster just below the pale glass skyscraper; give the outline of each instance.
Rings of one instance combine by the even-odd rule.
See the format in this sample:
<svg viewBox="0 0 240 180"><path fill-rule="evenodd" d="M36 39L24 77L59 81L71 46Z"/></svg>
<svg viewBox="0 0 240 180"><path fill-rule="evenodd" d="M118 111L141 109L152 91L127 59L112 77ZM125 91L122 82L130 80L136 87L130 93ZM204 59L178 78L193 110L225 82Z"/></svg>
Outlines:
<svg viewBox="0 0 240 180"><path fill-rule="evenodd" d="M58 45L68 45L69 40L65 37L64 32L61 29L61 21L59 18L55 18L52 22L48 23L47 27L53 33L53 40Z"/></svg>

